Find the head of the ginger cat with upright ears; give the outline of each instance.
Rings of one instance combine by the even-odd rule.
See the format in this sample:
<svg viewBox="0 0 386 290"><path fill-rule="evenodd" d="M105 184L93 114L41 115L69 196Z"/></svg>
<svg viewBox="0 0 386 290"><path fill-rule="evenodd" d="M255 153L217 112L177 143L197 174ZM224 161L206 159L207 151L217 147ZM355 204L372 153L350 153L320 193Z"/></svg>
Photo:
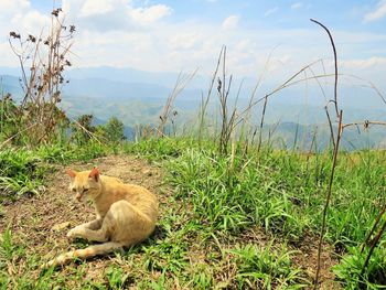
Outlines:
<svg viewBox="0 0 386 290"><path fill-rule="evenodd" d="M76 200L82 201L83 196L95 200L100 194L101 184L97 168L81 172L67 169L66 172L71 178L69 190L76 193Z"/></svg>

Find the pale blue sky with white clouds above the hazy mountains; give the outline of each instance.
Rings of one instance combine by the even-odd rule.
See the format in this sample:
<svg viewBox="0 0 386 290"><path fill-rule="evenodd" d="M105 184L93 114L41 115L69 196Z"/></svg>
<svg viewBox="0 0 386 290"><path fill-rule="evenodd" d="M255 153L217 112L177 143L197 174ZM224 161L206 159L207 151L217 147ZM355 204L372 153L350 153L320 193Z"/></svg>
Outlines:
<svg viewBox="0 0 386 290"><path fill-rule="evenodd" d="M9 32L47 30L53 7L76 26L74 67L205 75L226 45L227 72L239 77L279 82L321 58L314 72L332 73L330 41L312 18L331 30L341 73L386 89L386 0L0 0L0 66L18 66Z"/></svg>

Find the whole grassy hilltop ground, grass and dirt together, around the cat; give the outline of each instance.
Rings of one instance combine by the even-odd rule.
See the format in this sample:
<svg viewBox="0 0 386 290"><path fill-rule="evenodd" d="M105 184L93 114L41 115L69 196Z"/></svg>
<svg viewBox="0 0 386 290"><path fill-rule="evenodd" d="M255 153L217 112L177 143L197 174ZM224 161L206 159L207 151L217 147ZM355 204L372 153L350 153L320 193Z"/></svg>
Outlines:
<svg viewBox="0 0 386 290"><path fill-rule="evenodd" d="M266 148L247 159L237 154L229 163L214 144L201 147L189 139L124 143L114 149L118 155L111 147L97 144L74 149L2 152L3 174L13 176L18 167L14 173L26 180L19 193L0 180L0 283L13 289L311 287L331 167L328 154ZM322 248L321 289L356 283L362 266L350 259L363 258L357 249L384 202L378 175L385 164L384 152L341 154ZM161 212L154 234L126 251L40 272L37 267L55 255L88 245L65 238L68 227L93 218L93 210L71 197L64 170L94 165L157 194ZM41 185L31 187L29 175ZM361 223L353 223L358 218ZM375 249L366 283L386 281L385 257L383 247Z"/></svg>

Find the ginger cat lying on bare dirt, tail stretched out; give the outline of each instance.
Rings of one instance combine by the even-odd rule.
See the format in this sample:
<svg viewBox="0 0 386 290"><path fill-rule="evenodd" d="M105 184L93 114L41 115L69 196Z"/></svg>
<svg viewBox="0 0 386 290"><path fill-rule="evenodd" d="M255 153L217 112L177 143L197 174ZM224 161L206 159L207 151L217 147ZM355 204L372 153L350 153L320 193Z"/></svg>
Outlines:
<svg viewBox="0 0 386 290"><path fill-rule="evenodd" d="M67 237L81 237L103 244L62 254L43 265L43 268L135 245L148 238L154 230L158 201L147 189L100 175L96 168L83 172L68 169L67 174L71 176L69 190L76 193L75 197L78 201L84 196L90 198L96 210L95 221L71 229Z"/></svg>

